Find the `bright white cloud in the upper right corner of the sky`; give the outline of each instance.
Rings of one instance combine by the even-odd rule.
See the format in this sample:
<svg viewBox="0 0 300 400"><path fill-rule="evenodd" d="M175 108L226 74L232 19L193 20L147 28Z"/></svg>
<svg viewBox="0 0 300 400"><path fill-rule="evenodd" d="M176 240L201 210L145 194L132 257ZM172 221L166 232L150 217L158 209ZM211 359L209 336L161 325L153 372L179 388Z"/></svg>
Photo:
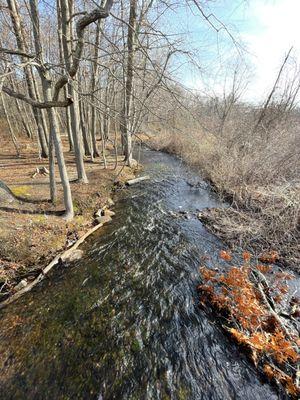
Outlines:
<svg viewBox="0 0 300 400"><path fill-rule="evenodd" d="M242 33L255 68L247 98L259 100L272 86L289 48L294 46L293 54L300 54L300 1L254 0L247 14L256 26Z"/></svg>

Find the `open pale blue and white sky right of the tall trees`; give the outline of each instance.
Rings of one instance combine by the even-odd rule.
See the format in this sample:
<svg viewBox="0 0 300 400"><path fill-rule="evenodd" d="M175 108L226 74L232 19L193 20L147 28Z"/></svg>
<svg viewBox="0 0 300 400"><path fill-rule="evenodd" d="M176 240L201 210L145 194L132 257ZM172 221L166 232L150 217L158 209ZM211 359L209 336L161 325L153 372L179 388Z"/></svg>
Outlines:
<svg viewBox="0 0 300 400"><path fill-rule="evenodd" d="M186 69L184 83L219 94L238 64L249 82L243 99L262 101L290 47L295 58L300 56L300 0L211 0L209 4L207 13L217 16L238 44L224 29L214 31L196 10L195 15L187 11L182 24L202 71ZM220 27L218 21L214 24Z"/></svg>

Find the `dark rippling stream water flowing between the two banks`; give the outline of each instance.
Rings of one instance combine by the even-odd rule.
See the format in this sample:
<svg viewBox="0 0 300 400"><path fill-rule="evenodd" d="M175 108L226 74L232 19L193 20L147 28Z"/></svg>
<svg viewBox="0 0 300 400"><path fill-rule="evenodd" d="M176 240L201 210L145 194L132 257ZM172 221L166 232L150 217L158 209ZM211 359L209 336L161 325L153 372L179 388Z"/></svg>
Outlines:
<svg viewBox="0 0 300 400"><path fill-rule="evenodd" d="M285 398L198 307L222 244L194 214L218 200L178 159L142 158L151 180L117 194L84 258L2 312L1 400Z"/></svg>

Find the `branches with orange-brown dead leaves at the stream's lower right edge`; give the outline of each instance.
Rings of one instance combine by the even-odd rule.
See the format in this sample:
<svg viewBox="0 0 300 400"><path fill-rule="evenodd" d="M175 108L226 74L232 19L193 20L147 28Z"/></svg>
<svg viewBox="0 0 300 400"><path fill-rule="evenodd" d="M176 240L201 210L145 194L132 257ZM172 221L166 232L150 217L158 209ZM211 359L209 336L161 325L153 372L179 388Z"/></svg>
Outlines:
<svg viewBox="0 0 300 400"><path fill-rule="evenodd" d="M222 251L221 258L231 260ZM226 317L224 328L250 354L265 375L281 384L292 397L300 395L299 362L300 340L293 315L280 313L277 308L283 301L291 276L278 273L280 277L272 286L265 274L268 265L250 266L250 254L243 255L244 265L232 266L225 273L206 267L200 268L203 283L198 286L202 305L211 305ZM286 320L289 322L287 323Z"/></svg>

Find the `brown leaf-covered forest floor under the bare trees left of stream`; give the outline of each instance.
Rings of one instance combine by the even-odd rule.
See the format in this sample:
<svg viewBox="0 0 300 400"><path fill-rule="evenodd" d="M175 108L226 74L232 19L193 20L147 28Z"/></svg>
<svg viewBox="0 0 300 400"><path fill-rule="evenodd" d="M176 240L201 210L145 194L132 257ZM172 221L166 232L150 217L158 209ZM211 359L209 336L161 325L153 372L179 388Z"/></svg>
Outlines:
<svg viewBox="0 0 300 400"><path fill-rule="evenodd" d="M10 141L5 137L0 140L0 180L24 199L0 204L0 294L6 297L21 279L34 279L41 268L85 233L94 223L94 213L109 201L115 179L125 182L134 176L134 171L123 167L121 157L115 168L115 156L108 150L107 168L102 160L86 160L89 183L80 184L76 182L74 154L66 151L75 212L74 219L66 222L59 217L64 209L59 180L58 202L53 206L49 201L49 176L33 177L37 168L48 168L48 160L38 158L36 144L20 140L18 158Z"/></svg>

